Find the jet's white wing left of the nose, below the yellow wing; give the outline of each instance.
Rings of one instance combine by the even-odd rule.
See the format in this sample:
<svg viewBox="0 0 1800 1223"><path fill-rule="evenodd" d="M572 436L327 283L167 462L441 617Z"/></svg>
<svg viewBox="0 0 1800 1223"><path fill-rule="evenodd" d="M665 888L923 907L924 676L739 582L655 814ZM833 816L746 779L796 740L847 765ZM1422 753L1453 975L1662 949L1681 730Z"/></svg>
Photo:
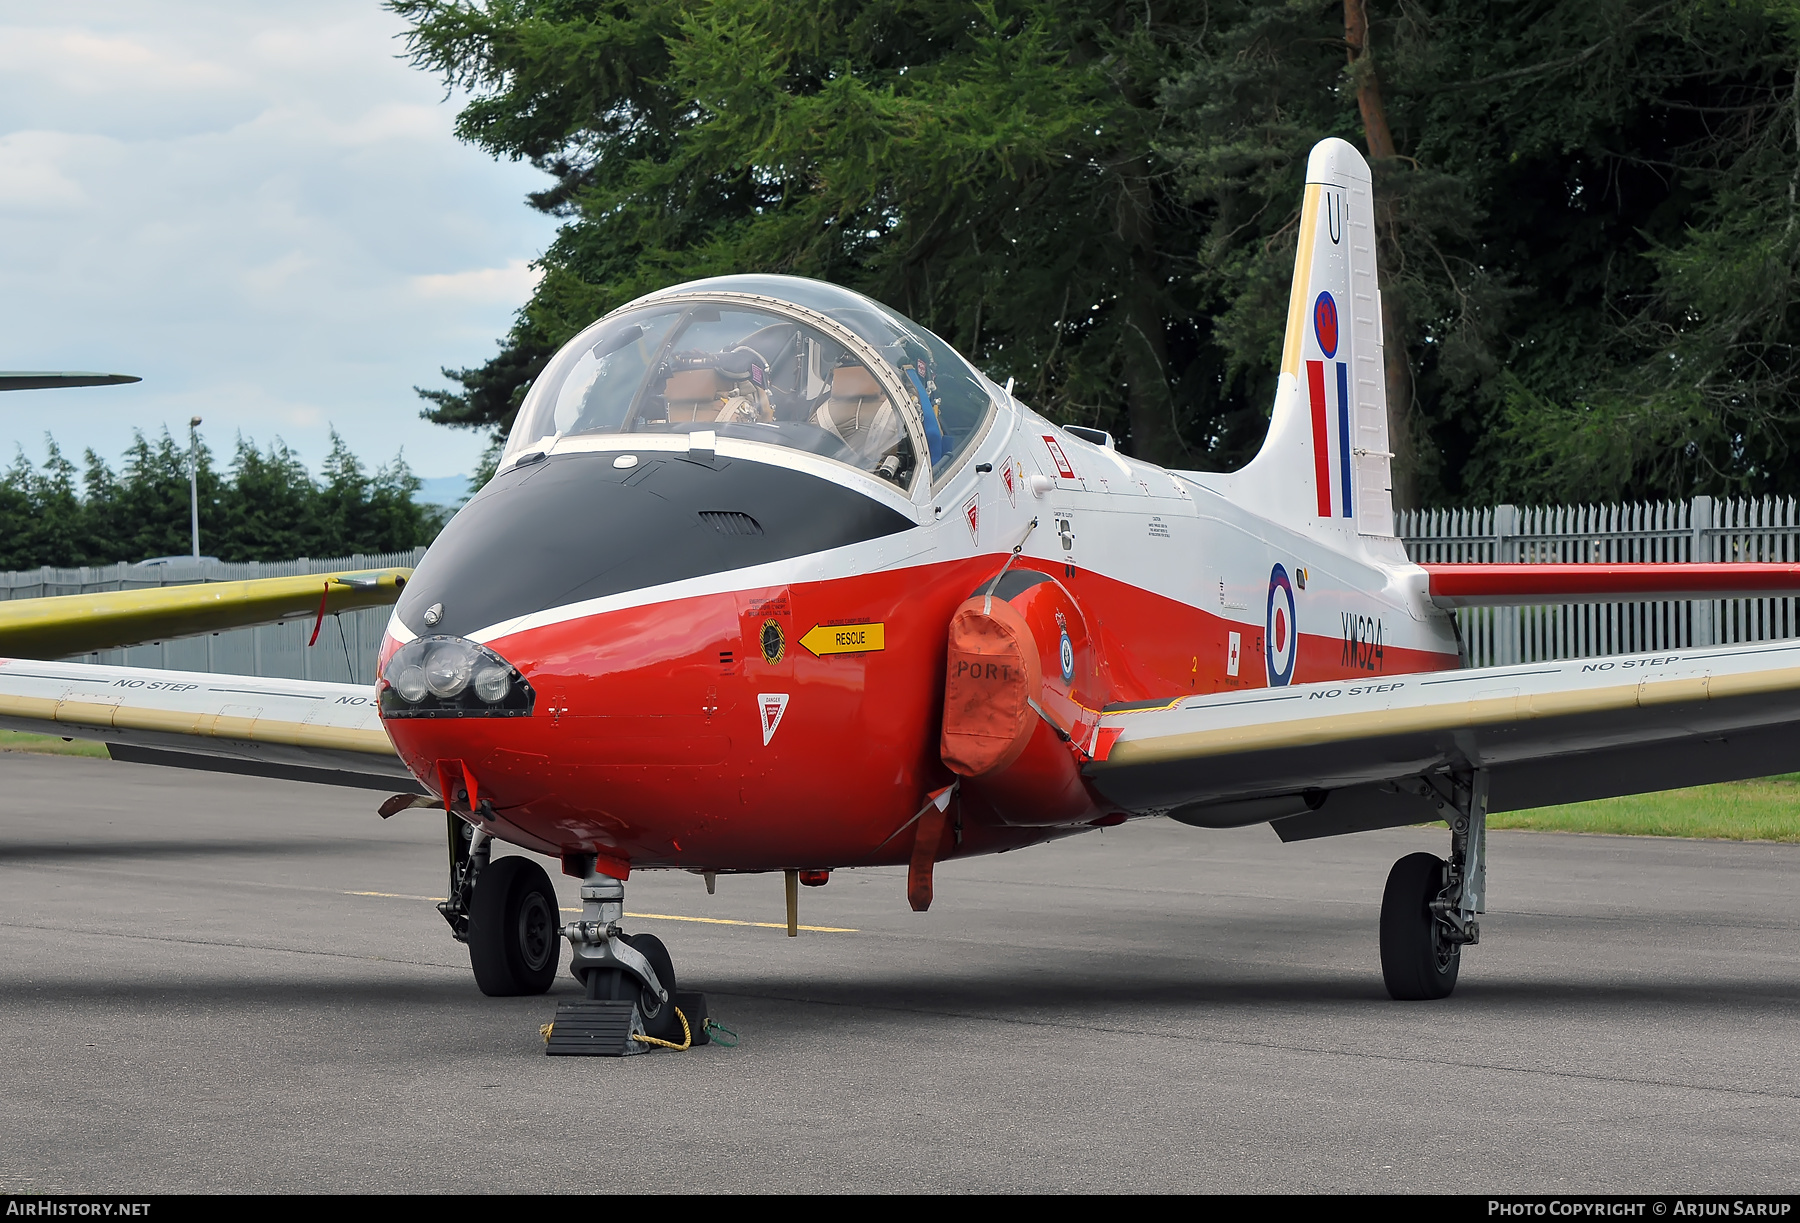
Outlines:
<svg viewBox="0 0 1800 1223"><path fill-rule="evenodd" d="M0 659L0 728L137 764L425 793L362 684Z"/></svg>

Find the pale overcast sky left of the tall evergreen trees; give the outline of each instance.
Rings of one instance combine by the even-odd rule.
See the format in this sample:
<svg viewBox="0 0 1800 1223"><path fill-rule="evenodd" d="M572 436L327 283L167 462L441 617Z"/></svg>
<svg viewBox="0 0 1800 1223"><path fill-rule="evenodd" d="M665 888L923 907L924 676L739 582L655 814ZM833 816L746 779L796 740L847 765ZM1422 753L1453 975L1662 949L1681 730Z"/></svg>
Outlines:
<svg viewBox="0 0 1800 1223"><path fill-rule="evenodd" d="M554 225L544 177L450 131L376 0L0 0L0 369L137 385L0 394L0 457L117 467L202 416L310 467L473 468L414 385L495 351Z"/></svg>

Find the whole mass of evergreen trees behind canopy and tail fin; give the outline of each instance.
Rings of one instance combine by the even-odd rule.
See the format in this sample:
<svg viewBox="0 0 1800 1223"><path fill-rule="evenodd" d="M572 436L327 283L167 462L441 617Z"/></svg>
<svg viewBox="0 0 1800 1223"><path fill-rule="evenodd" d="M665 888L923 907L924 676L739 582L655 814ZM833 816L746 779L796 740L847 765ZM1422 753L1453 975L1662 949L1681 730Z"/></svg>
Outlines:
<svg viewBox="0 0 1800 1223"><path fill-rule="evenodd" d="M389 7L472 92L459 135L551 173L563 220L499 355L425 393L441 423L504 430L598 315L763 270L869 292L1145 457L1235 467L1337 135L1382 200L1422 503L1800 492L1795 0Z"/></svg>

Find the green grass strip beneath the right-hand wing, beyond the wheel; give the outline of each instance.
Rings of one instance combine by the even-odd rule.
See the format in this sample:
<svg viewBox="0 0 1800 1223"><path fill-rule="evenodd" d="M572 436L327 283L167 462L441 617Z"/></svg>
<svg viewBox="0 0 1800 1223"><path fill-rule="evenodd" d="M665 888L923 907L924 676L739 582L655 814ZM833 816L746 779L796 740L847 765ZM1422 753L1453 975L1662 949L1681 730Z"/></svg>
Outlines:
<svg viewBox="0 0 1800 1223"><path fill-rule="evenodd" d="M1490 829L1800 841L1800 773L1489 816Z"/></svg>

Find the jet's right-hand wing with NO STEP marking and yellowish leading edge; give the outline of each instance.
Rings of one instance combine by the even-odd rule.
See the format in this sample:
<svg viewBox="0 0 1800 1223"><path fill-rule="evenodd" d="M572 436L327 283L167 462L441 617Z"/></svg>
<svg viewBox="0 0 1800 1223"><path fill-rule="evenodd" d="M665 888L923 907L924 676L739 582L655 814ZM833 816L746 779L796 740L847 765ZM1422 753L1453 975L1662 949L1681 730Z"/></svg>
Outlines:
<svg viewBox="0 0 1800 1223"><path fill-rule="evenodd" d="M1489 811L1800 771L1800 641L1368 675L1112 710L1085 773L1188 823L1283 839L1442 818L1429 778L1489 771Z"/></svg>

